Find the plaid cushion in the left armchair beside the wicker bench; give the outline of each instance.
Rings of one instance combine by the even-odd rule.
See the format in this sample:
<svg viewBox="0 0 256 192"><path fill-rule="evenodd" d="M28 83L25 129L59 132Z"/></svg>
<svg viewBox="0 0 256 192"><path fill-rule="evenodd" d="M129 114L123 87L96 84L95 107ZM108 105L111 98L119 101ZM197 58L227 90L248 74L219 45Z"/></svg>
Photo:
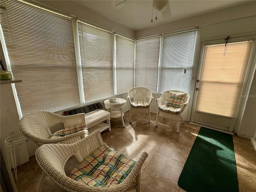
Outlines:
<svg viewBox="0 0 256 192"><path fill-rule="evenodd" d="M56 131L54 134L52 134L50 136L50 139L56 139L58 137L63 137L65 135L69 135L69 134L76 133L76 132L79 132L79 131L84 132L84 137L89 135L88 128L87 128L86 124L81 123L81 124L76 124L76 125L67 127L65 129Z"/></svg>

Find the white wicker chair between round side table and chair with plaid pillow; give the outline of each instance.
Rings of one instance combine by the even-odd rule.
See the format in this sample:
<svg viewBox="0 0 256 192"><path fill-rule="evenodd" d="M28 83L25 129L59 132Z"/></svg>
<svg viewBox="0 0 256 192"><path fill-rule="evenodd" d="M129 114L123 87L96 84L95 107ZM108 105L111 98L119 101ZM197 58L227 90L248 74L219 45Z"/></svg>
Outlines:
<svg viewBox="0 0 256 192"><path fill-rule="evenodd" d="M145 87L131 88L128 90L127 99L130 103L130 123L134 113L148 114L148 122L150 123L150 104L154 99L151 90Z"/></svg>

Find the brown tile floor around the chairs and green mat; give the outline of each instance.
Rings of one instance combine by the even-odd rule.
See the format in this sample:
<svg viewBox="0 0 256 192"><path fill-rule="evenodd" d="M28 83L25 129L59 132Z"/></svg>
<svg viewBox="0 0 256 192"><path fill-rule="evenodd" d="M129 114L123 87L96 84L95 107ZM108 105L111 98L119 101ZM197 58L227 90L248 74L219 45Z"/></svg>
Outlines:
<svg viewBox="0 0 256 192"><path fill-rule="evenodd" d="M151 114L150 124L146 119L146 115L134 115L130 124L129 112L126 112L125 128L122 127L121 119L112 119L111 132L102 132L102 138L111 148L135 160L142 152L148 152L141 171L142 192L185 192L178 186L178 178L200 127L185 122L180 126L180 133L176 133L175 122L160 118L158 127L155 127L156 114ZM248 139L233 136L233 140L239 191L255 192L256 151ZM36 192L41 170L35 157L18 166L17 170L18 192ZM42 191L64 190L46 178Z"/></svg>

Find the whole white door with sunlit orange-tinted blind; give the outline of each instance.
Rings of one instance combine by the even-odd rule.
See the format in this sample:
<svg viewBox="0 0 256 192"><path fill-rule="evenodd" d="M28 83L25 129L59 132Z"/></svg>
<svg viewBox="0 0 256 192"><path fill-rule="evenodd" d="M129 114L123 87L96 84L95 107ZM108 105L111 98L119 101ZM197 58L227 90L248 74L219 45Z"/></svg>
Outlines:
<svg viewBox="0 0 256 192"><path fill-rule="evenodd" d="M255 36L201 43L190 121L233 132Z"/></svg>

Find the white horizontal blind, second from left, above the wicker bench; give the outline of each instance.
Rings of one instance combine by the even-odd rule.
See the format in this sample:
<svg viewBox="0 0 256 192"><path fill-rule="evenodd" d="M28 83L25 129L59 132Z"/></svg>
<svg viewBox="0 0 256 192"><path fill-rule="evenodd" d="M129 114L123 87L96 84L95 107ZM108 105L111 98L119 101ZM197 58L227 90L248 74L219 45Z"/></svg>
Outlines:
<svg viewBox="0 0 256 192"><path fill-rule="evenodd" d="M112 33L78 21L85 102L114 95Z"/></svg>

